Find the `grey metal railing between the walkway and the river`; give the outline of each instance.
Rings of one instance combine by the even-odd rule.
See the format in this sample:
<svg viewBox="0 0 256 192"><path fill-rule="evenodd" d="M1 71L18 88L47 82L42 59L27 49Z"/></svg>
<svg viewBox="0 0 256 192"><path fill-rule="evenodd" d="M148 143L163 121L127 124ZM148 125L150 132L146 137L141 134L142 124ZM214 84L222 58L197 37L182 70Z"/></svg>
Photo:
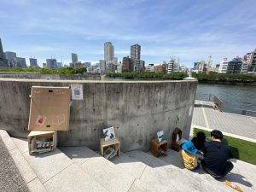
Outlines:
<svg viewBox="0 0 256 192"><path fill-rule="evenodd" d="M236 114L256 117L256 111L253 111L253 110L224 107L224 102L222 102L218 98L218 96L214 96L212 94L201 94L200 96L195 96L195 99L196 100L201 100L201 101L213 102L214 103L214 108L215 107L218 108L219 111L221 111L221 112L236 113Z"/></svg>

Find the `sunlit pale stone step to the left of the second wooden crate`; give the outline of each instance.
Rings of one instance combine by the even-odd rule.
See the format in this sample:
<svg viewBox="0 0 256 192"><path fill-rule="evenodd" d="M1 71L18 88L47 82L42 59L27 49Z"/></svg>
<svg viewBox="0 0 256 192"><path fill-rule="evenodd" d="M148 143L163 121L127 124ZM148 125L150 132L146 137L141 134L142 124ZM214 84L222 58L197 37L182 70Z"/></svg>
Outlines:
<svg viewBox="0 0 256 192"><path fill-rule="evenodd" d="M108 191L126 192L136 178L125 169L125 166L116 166L90 148L68 147L61 148L61 150ZM125 160L125 155L116 158L115 162L119 160Z"/></svg>

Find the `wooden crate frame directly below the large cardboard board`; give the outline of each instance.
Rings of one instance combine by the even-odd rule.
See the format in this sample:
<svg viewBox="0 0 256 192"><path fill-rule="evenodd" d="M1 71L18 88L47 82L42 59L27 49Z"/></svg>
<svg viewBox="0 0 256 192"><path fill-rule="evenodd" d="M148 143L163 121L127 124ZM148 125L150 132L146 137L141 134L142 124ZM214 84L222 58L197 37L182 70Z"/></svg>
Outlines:
<svg viewBox="0 0 256 192"><path fill-rule="evenodd" d="M54 150L57 147L57 131L31 131L27 136L28 151L29 154L34 154L32 148L32 139L36 138L38 140L44 141L45 139L51 139L53 141L53 147L51 150Z"/></svg>

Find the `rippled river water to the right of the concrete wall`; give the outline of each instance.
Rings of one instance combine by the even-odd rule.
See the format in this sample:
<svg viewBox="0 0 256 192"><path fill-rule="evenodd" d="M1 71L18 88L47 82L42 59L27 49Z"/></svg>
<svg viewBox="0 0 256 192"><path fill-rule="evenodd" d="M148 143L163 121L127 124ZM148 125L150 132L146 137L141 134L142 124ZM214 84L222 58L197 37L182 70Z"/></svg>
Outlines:
<svg viewBox="0 0 256 192"><path fill-rule="evenodd" d="M218 96L224 108L240 108L256 111L256 86L236 84L198 84L196 97L204 94Z"/></svg>

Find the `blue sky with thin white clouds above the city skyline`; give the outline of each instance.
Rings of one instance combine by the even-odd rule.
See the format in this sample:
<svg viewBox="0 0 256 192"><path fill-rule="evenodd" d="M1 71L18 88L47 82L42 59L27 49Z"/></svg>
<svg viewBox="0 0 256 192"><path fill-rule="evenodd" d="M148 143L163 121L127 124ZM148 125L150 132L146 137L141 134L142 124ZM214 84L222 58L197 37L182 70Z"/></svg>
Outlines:
<svg viewBox="0 0 256 192"><path fill-rule="evenodd" d="M106 41L119 61L140 44L146 65L171 55L188 67L209 55L216 64L256 49L255 0L0 0L0 20L4 51L39 65L69 63L72 52L99 61Z"/></svg>

